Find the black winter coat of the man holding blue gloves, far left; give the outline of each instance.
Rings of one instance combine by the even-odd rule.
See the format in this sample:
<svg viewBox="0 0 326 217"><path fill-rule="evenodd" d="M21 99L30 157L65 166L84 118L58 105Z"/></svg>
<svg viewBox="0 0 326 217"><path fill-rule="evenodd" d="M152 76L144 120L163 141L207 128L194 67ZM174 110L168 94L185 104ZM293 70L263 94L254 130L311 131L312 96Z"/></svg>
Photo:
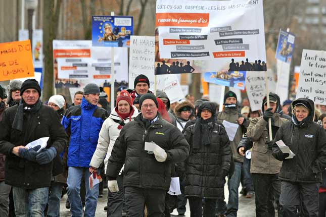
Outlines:
<svg viewBox="0 0 326 217"><path fill-rule="evenodd" d="M18 105L9 107L0 123L0 152L6 154L6 184L25 189L49 187L52 178L53 161L39 165L37 162L12 154L15 146L25 146L41 137L50 137L49 147L60 153L68 144L68 136L60 124L56 112L49 106L41 105L35 113L24 114L23 132L12 128ZM27 116L30 122L27 122Z"/></svg>

